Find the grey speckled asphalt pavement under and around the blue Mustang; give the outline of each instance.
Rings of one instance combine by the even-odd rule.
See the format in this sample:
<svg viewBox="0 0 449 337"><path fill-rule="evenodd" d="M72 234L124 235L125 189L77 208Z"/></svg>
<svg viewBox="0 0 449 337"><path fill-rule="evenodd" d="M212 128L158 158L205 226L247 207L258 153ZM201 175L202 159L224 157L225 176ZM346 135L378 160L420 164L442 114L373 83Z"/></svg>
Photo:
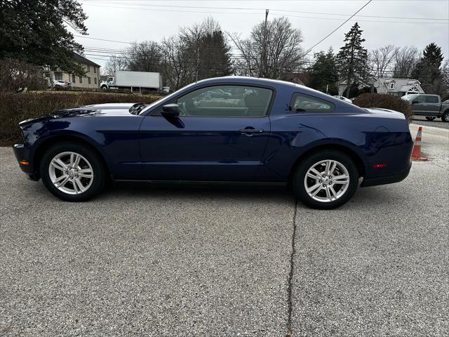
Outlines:
<svg viewBox="0 0 449 337"><path fill-rule="evenodd" d="M67 203L2 147L0 336L448 336L449 131L422 148L315 211L247 187Z"/></svg>

